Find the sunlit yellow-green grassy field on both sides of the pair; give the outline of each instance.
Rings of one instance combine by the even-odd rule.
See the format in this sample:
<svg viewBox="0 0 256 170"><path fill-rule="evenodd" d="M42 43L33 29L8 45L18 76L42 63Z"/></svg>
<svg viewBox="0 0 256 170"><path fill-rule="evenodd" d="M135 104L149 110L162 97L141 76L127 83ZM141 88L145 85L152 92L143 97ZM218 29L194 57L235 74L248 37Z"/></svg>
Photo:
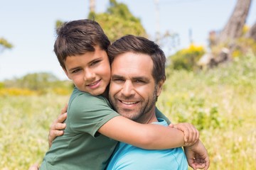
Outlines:
<svg viewBox="0 0 256 170"><path fill-rule="evenodd" d="M210 169L256 169L256 57L206 72L170 71L157 106L193 123ZM48 150L48 130L69 96L0 96L0 169L28 169Z"/></svg>

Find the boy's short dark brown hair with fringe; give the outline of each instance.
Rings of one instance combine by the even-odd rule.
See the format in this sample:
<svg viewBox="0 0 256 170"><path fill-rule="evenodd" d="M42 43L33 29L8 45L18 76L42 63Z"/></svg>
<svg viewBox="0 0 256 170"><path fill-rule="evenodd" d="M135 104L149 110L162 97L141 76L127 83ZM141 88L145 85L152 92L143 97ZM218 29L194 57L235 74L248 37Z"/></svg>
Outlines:
<svg viewBox="0 0 256 170"><path fill-rule="evenodd" d="M70 21L58 28L54 52L60 66L65 69L64 62L68 56L94 52L96 45L106 52L110 45L110 40L99 23L89 19Z"/></svg>

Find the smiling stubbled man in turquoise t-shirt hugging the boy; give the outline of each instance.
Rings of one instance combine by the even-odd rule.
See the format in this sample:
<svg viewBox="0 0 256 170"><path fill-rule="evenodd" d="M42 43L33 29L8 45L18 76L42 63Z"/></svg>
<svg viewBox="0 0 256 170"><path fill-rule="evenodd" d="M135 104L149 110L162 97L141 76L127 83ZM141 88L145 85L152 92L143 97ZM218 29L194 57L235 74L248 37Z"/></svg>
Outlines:
<svg viewBox="0 0 256 170"><path fill-rule="evenodd" d="M166 125L164 120L156 118L155 113L156 100L166 79L164 52L146 38L127 35L110 46L108 55L112 66L110 102L115 110L138 123L161 121L160 124ZM49 140L61 135L57 134L61 131L56 129L63 128L63 124L58 122L64 119L65 115L62 115L53 124ZM181 129L181 126L177 125L176 128ZM208 154L200 141L184 149L188 164L193 169L208 169ZM184 158L181 148L152 151L120 143L108 169L187 169Z"/></svg>

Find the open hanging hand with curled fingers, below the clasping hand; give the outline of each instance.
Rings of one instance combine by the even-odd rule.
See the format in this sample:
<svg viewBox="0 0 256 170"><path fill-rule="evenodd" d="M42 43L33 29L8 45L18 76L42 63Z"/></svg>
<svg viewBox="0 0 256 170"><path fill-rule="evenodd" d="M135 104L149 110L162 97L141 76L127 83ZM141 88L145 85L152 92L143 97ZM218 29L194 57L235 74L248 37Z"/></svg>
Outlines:
<svg viewBox="0 0 256 170"><path fill-rule="evenodd" d="M184 152L188 160L188 165L194 170L208 169L210 166L210 159L206 147L198 140L195 145L184 147Z"/></svg>

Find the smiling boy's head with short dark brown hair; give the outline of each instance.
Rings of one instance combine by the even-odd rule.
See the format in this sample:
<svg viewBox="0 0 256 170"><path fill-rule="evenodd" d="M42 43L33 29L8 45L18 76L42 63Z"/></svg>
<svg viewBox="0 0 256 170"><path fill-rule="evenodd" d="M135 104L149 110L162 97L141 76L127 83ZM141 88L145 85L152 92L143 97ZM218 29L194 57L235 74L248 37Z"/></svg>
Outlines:
<svg viewBox="0 0 256 170"><path fill-rule="evenodd" d="M54 51L75 86L97 96L105 93L110 83L109 45L97 22L78 20L64 23L58 30Z"/></svg>

